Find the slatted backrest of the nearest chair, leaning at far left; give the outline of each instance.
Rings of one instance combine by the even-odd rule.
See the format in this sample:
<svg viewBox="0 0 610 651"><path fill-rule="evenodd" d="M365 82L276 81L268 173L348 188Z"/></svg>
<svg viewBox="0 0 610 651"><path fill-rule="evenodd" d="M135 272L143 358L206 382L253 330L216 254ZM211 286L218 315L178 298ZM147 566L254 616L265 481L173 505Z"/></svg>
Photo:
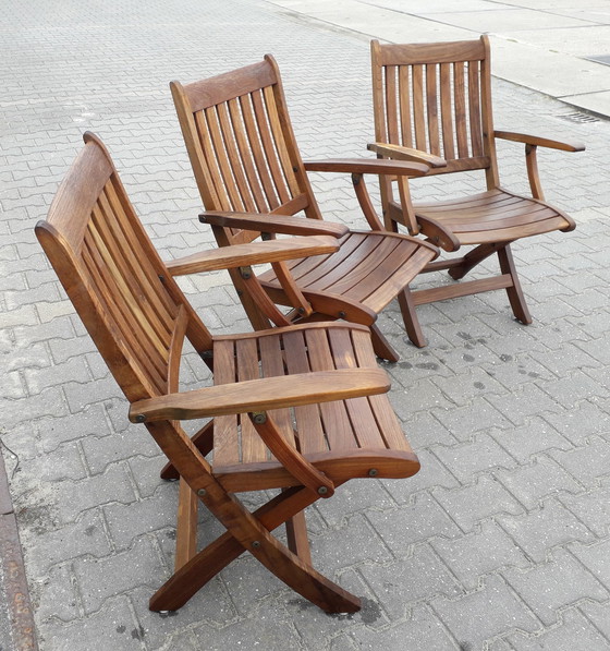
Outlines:
<svg viewBox="0 0 610 651"><path fill-rule="evenodd" d="M89 335L130 401L178 388L184 336L211 336L139 222L101 142L85 147L36 234Z"/></svg>

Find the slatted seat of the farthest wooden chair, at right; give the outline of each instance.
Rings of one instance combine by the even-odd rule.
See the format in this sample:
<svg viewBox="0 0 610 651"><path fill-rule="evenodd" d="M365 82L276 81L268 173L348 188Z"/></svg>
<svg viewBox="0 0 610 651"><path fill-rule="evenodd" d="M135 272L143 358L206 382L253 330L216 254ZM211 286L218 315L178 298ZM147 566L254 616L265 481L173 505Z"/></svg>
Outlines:
<svg viewBox="0 0 610 651"><path fill-rule="evenodd" d="M422 232L442 229L460 244L510 242L518 238L572 230L574 222L549 204L501 188L444 202L414 205Z"/></svg>

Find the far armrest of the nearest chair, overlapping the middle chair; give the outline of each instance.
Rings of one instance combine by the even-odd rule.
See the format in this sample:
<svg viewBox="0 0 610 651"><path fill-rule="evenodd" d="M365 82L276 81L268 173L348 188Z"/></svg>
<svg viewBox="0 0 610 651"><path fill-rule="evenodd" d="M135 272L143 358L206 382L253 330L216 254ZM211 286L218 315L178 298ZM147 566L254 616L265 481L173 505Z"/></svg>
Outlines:
<svg viewBox="0 0 610 651"><path fill-rule="evenodd" d="M309 236L285 240L268 240L210 249L166 263L172 276L234 269L266 263L322 255L339 250L334 237Z"/></svg>

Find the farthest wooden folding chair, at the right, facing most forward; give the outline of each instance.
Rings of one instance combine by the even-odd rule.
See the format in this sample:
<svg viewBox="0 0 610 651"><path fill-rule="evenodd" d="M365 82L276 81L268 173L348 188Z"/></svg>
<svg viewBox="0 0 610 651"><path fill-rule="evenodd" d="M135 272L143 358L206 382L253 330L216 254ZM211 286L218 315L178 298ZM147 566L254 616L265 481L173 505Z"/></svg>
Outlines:
<svg viewBox="0 0 610 651"><path fill-rule="evenodd" d="M510 244L520 238L575 228L571 217L544 201L536 150L538 146L578 152L568 144L523 133L495 131L491 116L490 50L478 40L422 45L371 43L376 143L379 158L414 160L431 166L430 174L485 170L487 191L437 203L411 203L408 181L380 178L385 224L403 225L444 251L475 248L462 257L429 264L424 273L449 269L463 278L480 262L498 254L501 274L459 285L414 291L413 303L430 303L492 289L507 290L515 317L532 323ZM500 186L496 138L525 144L533 198ZM417 320L412 317L414 327ZM420 345L425 343L418 329Z"/></svg>

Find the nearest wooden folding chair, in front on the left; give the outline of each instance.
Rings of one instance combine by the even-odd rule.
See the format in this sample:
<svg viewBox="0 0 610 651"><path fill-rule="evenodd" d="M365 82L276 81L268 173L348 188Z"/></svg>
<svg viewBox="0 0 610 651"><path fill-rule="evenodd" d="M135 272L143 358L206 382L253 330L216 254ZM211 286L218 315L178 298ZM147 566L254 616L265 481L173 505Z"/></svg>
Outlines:
<svg viewBox="0 0 610 651"><path fill-rule="evenodd" d="M247 550L325 611L357 611L356 596L312 567L303 509L352 478L419 468L383 395L388 376L368 329L333 322L212 337L155 251L103 145L91 134L85 143L36 234L130 401L130 420L167 455L162 477L180 478L175 572L150 608L179 608ZM301 240L292 250L282 240L207 251L196 270L337 249L329 236ZM213 367L213 386L179 391L185 337ZM193 438L179 422L207 417ZM254 513L235 496L272 489L280 491ZM227 532L196 552L199 501ZM271 535L282 523L288 547Z"/></svg>

